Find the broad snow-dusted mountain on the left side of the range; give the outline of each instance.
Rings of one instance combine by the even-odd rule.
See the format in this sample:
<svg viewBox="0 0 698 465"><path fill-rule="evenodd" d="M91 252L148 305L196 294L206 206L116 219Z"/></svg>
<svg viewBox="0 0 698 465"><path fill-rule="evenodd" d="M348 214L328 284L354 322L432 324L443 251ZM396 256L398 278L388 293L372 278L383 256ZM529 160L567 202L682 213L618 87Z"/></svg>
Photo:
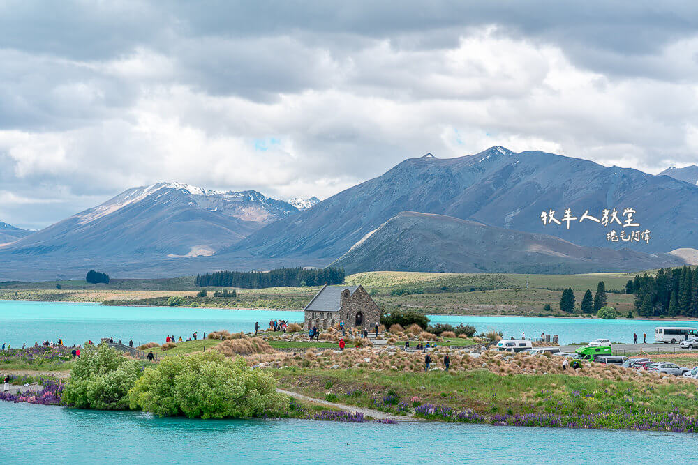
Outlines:
<svg viewBox="0 0 698 465"><path fill-rule="evenodd" d="M254 190L182 183L131 188L94 208L0 248L15 256L193 257L211 255L252 231L298 213Z"/></svg>

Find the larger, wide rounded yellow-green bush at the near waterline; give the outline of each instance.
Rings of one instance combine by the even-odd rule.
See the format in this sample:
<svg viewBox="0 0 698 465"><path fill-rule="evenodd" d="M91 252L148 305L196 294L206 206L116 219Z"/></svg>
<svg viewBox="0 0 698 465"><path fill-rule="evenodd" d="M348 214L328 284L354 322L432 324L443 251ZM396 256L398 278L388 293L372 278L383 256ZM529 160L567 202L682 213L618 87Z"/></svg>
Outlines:
<svg viewBox="0 0 698 465"><path fill-rule="evenodd" d="M216 351L165 358L128 392L131 409L188 418L247 418L288 412L269 373Z"/></svg>

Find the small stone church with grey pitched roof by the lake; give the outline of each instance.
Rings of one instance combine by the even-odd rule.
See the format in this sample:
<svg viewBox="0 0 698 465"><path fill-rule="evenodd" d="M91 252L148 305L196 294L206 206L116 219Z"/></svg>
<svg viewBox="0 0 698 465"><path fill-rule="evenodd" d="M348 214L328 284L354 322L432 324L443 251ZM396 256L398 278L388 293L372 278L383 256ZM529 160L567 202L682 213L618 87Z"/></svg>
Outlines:
<svg viewBox="0 0 698 465"><path fill-rule="evenodd" d="M305 328L327 329L344 322L345 328L356 326L373 330L380 324L380 310L362 286L327 286L306 305Z"/></svg>

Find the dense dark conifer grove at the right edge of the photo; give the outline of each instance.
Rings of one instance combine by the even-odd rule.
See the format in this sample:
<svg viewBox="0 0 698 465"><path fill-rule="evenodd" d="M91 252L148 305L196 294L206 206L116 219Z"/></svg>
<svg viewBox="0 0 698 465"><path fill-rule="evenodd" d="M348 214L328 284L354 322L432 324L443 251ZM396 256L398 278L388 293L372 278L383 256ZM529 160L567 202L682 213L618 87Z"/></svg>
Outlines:
<svg viewBox="0 0 698 465"><path fill-rule="evenodd" d="M636 275L628 281L635 308L643 317L698 317L698 266L661 268L656 276Z"/></svg>

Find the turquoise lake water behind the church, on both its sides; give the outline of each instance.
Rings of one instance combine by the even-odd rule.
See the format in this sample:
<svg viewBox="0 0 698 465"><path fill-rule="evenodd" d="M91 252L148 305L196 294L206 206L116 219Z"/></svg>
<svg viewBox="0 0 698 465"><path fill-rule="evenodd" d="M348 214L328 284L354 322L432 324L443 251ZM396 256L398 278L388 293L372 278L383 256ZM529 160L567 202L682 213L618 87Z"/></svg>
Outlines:
<svg viewBox="0 0 698 465"><path fill-rule="evenodd" d="M430 315L433 322L468 323L480 333L498 330L505 337L540 337L544 332L560 336L560 343L587 342L597 337L607 337L614 342L632 342L632 334L647 333L653 341L655 326L693 326L698 322L648 321L648 320L598 320L583 318L537 317L471 317L454 315ZM225 329L231 332L254 330L255 321L262 328L269 326L269 319L303 321L302 312L290 310L233 310L188 307L112 307L82 303L44 303L0 301L0 344L13 346L35 341L57 341L65 344L82 344L100 337L114 337L127 342L164 342L166 335L180 335L186 339L194 331L203 333Z"/></svg>

